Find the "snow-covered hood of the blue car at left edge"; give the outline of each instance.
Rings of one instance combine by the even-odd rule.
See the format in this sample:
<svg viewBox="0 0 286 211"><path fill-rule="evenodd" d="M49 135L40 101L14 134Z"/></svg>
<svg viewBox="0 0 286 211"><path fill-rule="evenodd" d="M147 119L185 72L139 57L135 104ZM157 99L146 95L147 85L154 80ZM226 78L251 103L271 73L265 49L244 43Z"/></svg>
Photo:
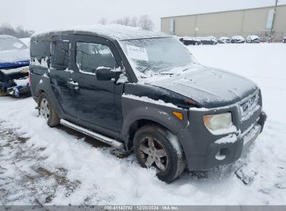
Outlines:
<svg viewBox="0 0 286 211"><path fill-rule="evenodd" d="M29 49L0 51L0 69L29 65Z"/></svg>

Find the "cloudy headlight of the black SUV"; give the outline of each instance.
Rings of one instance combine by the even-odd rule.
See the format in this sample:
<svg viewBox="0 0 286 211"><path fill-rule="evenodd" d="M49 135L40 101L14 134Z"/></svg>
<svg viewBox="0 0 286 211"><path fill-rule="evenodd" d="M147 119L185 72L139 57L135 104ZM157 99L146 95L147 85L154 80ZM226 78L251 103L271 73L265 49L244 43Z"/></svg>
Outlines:
<svg viewBox="0 0 286 211"><path fill-rule="evenodd" d="M227 129L232 126L232 114L227 112L219 115L207 115L204 116L204 122L209 130Z"/></svg>

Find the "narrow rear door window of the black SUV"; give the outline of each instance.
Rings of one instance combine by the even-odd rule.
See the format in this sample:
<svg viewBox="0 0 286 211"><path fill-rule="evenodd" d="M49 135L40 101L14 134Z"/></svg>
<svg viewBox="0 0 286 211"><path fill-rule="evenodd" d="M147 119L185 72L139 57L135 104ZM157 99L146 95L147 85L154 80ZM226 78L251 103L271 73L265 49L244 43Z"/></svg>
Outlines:
<svg viewBox="0 0 286 211"><path fill-rule="evenodd" d="M51 42L51 67L66 69L70 61L70 41Z"/></svg>

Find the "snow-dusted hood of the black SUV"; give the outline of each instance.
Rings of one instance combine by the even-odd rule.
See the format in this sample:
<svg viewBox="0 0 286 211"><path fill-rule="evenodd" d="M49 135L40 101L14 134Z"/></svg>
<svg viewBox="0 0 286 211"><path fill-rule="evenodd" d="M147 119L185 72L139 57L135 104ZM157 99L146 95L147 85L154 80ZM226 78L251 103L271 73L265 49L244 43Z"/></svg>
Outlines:
<svg viewBox="0 0 286 211"><path fill-rule="evenodd" d="M197 101L201 107L217 108L241 101L257 90L252 81L237 74L200 67L179 76L163 77L149 85L161 87Z"/></svg>

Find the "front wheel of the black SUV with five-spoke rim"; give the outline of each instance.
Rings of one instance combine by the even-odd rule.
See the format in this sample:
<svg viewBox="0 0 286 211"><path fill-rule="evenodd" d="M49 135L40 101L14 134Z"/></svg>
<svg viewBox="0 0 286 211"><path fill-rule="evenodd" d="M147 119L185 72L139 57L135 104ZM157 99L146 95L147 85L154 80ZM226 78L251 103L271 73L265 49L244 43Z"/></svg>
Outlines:
<svg viewBox="0 0 286 211"><path fill-rule="evenodd" d="M186 167L177 137L156 124L139 128L134 136L134 152L141 167L155 167L157 177L166 183L179 177Z"/></svg>

